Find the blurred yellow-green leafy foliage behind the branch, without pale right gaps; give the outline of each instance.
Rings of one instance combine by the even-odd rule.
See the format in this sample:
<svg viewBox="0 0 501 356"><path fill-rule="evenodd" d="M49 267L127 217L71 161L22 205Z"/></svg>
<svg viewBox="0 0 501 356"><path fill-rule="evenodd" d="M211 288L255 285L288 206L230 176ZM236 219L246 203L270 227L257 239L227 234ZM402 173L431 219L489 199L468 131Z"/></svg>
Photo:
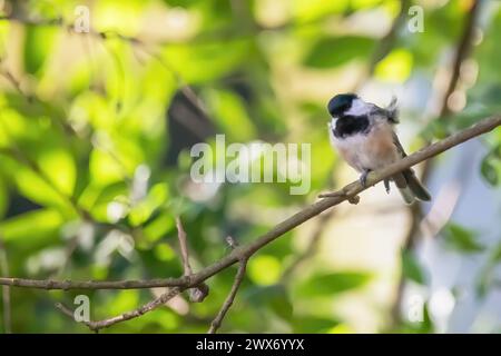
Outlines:
<svg viewBox="0 0 501 356"><path fill-rule="evenodd" d="M399 86L419 77L431 88L436 68L455 47L468 1L419 2L425 31L400 29L393 49L375 67L374 82ZM32 22L60 18L72 23L76 7L87 4L92 29L106 34L72 33L58 21L0 21L0 238L10 274L59 279L179 276L175 216L183 217L198 269L227 253L225 236L249 241L291 208L311 201L328 186L337 162L325 132L324 105L333 91L350 90L366 71L399 3L4 1L6 14ZM440 138L499 109L501 11L492 11L488 22L472 65L478 80L464 83L469 91L460 119L432 120L423 138ZM204 113L193 109L194 101ZM409 110L410 121L420 119L420 102ZM228 142L314 142L312 192L291 196L291 181L193 184L188 142L206 140L214 147L214 132L226 134ZM500 181L500 142L499 131L485 139L489 154L478 167L492 186ZM455 250L483 250L475 235L459 225L444 234ZM355 330L333 305L338 295L356 294L376 276L312 263L282 281L298 254L298 231L291 231L250 259L224 332ZM485 266L479 287L483 294L499 255ZM426 284L415 256L404 253L402 266L406 278ZM206 332L234 273L230 268L213 277L203 304L178 298L106 332ZM95 319L153 297L151 290L85 293ZM71 305L76 295L12 289L13 330L86 332L53 308L58 300ZM425 316L420 326L399 330L433 332L426 307Z"/></svg>

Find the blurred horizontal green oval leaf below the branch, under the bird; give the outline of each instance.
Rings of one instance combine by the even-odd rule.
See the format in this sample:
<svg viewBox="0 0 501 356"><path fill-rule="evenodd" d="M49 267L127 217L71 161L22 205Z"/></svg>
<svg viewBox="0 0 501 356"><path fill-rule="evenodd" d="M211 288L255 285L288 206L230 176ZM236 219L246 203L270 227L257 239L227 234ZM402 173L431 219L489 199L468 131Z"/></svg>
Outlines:
<svg viewBox="0 0 501 356"><path fill-rule="evenodd" d="M321 297L360 288L369 283L371 275L360 271L341 271L315 275L297 288L298 297Z"/></svg>

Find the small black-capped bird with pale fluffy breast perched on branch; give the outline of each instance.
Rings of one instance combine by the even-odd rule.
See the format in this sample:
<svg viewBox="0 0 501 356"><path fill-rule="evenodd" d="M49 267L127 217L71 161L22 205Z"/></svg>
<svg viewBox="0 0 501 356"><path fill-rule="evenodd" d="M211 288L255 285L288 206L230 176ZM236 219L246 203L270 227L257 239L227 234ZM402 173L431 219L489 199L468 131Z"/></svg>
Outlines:
<svg viewBox="0 0 501 356"><path fill-rule="evenodd" d="M365 187L369 172L381 169L406 156L393 126L399 123L396 98L386 108L365 102L354 93L336 95L328 101L328 134L346 162L361 172ZM430 192L409 168L390 178L399 188L406 204L415 199L429 201ZM390 179L384 180L390 192Z"/></svg>

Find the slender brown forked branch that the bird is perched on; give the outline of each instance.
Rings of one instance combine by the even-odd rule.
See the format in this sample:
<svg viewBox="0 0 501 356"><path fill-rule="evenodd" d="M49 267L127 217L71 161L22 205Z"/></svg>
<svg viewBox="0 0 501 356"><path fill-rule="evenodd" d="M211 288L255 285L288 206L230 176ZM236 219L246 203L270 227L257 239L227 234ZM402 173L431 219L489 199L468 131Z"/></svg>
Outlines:
<svg viewBox="0 0 501 356"><path fill-rule="evenodd" d="M119 322L125 322L135 317L138 317L145 313L148 313L159 305L164 304L176 295L187 288L196 287L203 284L206 279L216 275L220 270L232 266L237 261L247 260L256 251L258 251L264 246L271 244L282 235L291 231L301 224L316 217L321 212L336 206L345 200L351 200L355 198L360 192L369 189L369 187L374 186L381 180L395 175L399 171L407 169L419 162L422 162L431 157L434 157L443 151L451 149L454 146L461 145L462 142L472 139L482 134L489 132L501 125L501 115L497 115L487 118L470 128L459 131L441 141L432 144L421 150L399 160L397 162L385 167L379 171L371 172L367 177L367 184L363 187L358 181L354 181L341 190L336 191L333 196L321 199L297 214L293 215L288 219L279 222L268 233L262 235L253 243L243 246L236 246L232 253L219 259L218 261L205 267L200 271L190 275L183 276L180 278L166 278L166 279L149 279L149 280L122 280L122 281L57 281L57 280L37 280L37 279L22 279L22 278L0 278L0 285L13 286L13 287L27 287L27 288L39 288L39 289L137 289L137 288L154 288L154 287L176 287L171 288L166 294L161 295L159 298L144 305L143 307L135 309L132 312L125 313L120 316L105 319L101 322L94 322L95 329L102 327L108 327ZM242 267L242 266L240 266ZM242 268L240 268L242 270ZM245 270L244 270L245 271ZM240 271L243 274L244 271ZM240 275L238 274L238 275ZM238 276L237 276L238 277ZM222 312L225 314L229 308L234 299L234 289L237 289L239 281L236 278L234 287L223 306ZM228 307L225 307L229 305ZM223 315L224 317L224 315ZM216 319L217 322L217 319ZM217 326L217 324L215 324Z"/></svg>

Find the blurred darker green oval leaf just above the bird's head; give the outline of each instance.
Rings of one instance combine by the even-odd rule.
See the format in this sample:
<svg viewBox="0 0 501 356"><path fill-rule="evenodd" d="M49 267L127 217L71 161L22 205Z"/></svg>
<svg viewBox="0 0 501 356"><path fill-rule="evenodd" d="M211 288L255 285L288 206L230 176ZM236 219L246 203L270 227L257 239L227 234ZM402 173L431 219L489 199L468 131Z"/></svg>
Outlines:
<svg viewBox="0 0 501 356"><path fill-rule="evenodd" d="M331 68L354 59L371 56L374 40L369 37L347 36L320 40L304 60L304 65L314 68Z"/></svg>

